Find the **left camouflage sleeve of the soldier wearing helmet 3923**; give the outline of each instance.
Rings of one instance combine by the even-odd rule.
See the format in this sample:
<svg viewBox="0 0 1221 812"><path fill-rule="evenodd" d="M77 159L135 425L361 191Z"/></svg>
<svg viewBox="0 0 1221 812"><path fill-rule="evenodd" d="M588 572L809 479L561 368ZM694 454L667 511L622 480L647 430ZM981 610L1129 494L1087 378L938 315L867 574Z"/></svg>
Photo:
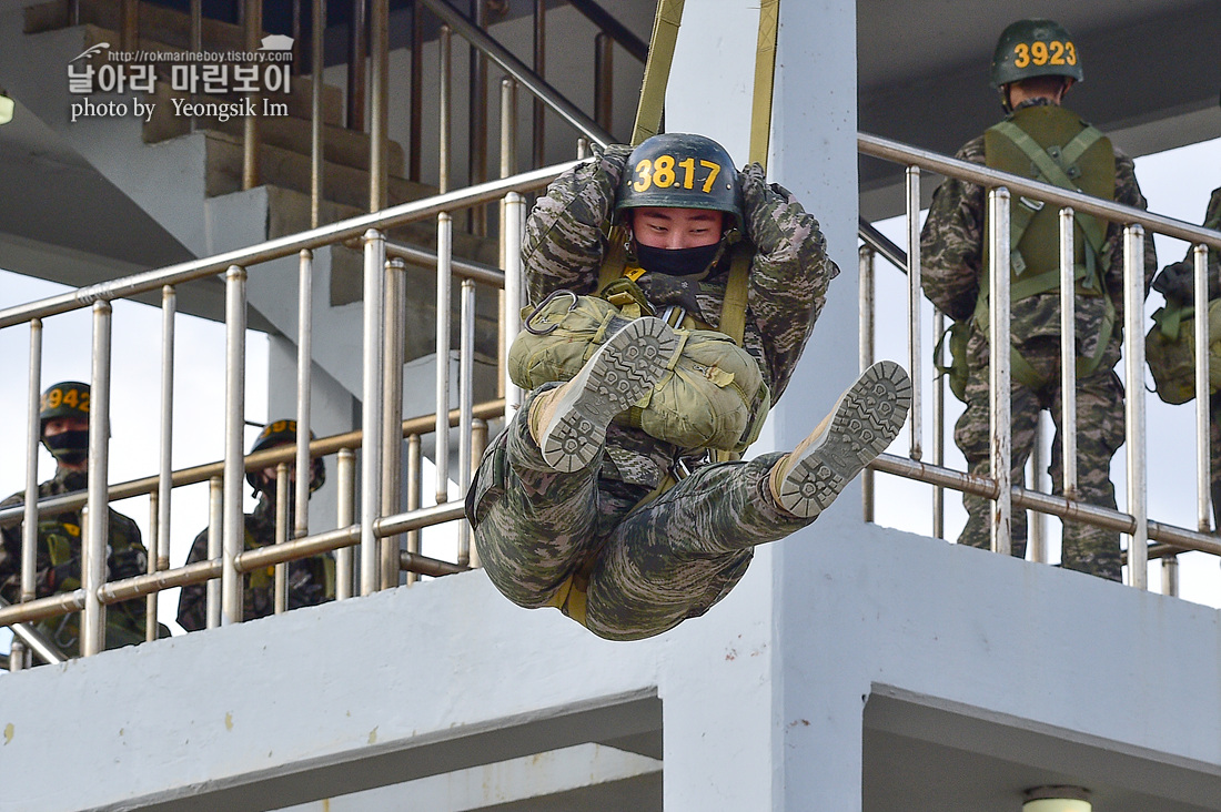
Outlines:
<svg viewBox="0 0 1221 812"><path fill-rule="evenodd" d="M955 158L984 165L983 137L967 142ZM983 241L984 188L946 178L933 193L921 231L921 287L929 302L956 321L976 310Z"/></svg>

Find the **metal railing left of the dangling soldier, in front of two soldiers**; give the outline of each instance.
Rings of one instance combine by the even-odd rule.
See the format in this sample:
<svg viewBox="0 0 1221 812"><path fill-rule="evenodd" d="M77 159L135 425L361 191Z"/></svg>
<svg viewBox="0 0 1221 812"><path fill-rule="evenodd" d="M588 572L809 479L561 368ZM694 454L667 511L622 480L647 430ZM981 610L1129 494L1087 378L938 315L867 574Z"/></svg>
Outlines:
<svg viewBox="0 0 1221 812"><path fill-rule="evenodd" d="M515 314L521 298L520 272L520 234L524 228L523 194L534 192L554 178L573 162L559 166L532 170L514 177L487 182L476 187L451 192L386 209L381 212L361 215L343 222L321 226L310 231L267 241L249 248L228 252L217 256L183 263L165 269L158 269L129 277L94 285L70 293L40 299L26 305L7 308L0 311L0 328L29 325L29 398L27 429L32 432L27 442L28 459L37 463L38 392L40 391L42 341L44 319L59 314L90 308L93 313L93 354L92 354L92 401L90 401L90 446L89 446L89 488L84 493L70 493L46 499L38 499L37 464L27 468L29 485L26 490L26 503L0 510L0 524L11 525L24 521L22 537L22 578L21 603L0 608L0 625L12 625L43 620L59 614L83 611L81 652L90 656L101 651L105 643L103 624L104 607L120 601L138 597L148 598L151 619L148 623L147 637L156 635L156 600L161 590L199 584L219 578L220 589L208 591L209 626L237 623L242 619L242 576L258 568L284 564L288 560L314 556L321 552L336 551L338 574L338 597L348 597L353 592L352 559L353 547L360 549L360 571L355 581L359 593L368 595L380 589L398 584L399 569L409 569L418 574L441 575L462 571L473 563L469 537L463 535L457 562L442 562L419 553L416 531L424 526L452 521L463 517L460 501L451 501L448 490L449 427L459 429L459 487L465 491L470 470L482 453L486 443L486 421L508 413L513 414L520 393L509 391L508 401L497 399L490 403L474 403L474 385L471 360L474 358L475 324L475 286L481 283L497 291L505 289L505 297L513 304L509 313ZM492 269L476 263L454 260L452 243L446 234L449 228L452 211L460 211L471 205L501 201L504 210L504 239L502 250L505 258L504 269ZM438 223L438 252L436 254L397 243L388 243L382 236L386 230L399 225L435 217ZM297 256L299 261L298 291L298 393L297 421L299 436L309 436L311 363L311 278L313 252L332 244L344 244L359 239L364 250L364 333L363 333L363 392L361 425L363 431L348 432L321 440L308 446L284 446L249 457L243 454L244 429L244 374L245 374L245 285L247 272L259 272L259 265L270 260ZM403 311L405 306L405 285L402 275L404 263L425 265L436 269L437 288L443 292L438 297L438 317L436 333L437 364L437 411L402 421L396 415L402 414L402 386L394 383L402 375L404 327ZM225 275L226 286L226 420L223 459L208 465L173 471L170 466L170 424L173 411L173 390L167 381L173 374L173 336L175 303L177 287L195 280ZM459 314L460 372L458 382L457 408L449 404L448 364L451 355L449 333L449 280L455 276L462 285L462 306ZM110 407L110 332L111 302L133 297L140 293L161 289L162 292L162 385L161 385L161 422L160 422L160 465L158 474L139 480L122 482L107 487L109 438L104 429L107 424ZM505 324L514 320L508 319ZM512 327L508 327L512 330ZM512 333L509 335L512 339ZM507 347L502 342L502 348ZM504 359L499 360L503 366ZM386 381L393 385L387 386ZM409 438L408 471L415 471L416 481L408 482L409 493L420 491L419 471L421 444L420 436L436 435L435 459L437 460L437 506L420 508L418 496L409 497L407 512L399 512L397 502L388 495L398 493L394 477L400 470L396 449L403 437ZM355 452L360 452L361 477L359 499L353 488ZM389 449L389 452L387 451ZM287 496L288 464L297 470L306 470L311 457L324 457L338 453L339 470L339 508L337 512L338 529L327 532L309 534L309 477L297 481L297 499L294 517L277 518L277 541L280 543L260 549L244 549L244 519L242 508L242 488L248 471L277 466L277 487ZM388 464L387 464L388 463ZM211 510L209 523L209 560L171 569L168 567L170 512L168 493L175 487L195 482L210 482ZM387 487L388 486L388 487ZM149 573L116 581L105 580L109 523L107 507L112 499L148 495L153 501L154 554L149 557ZM281 498L280 504L287 499ZM34 598L34 556L38 543L37 526L39 517L48 517L67 510L84 508L87 520L82 541L83 560L88 562L82 574L82 587L71 592L50 597ZM359 510L359 514L357 513ZM358 520L359 518L359 520ZM289 532L291 525L291 532ZM392 540L408 535L408 549L399 551ZM410 534L415 534L411 536ZM411 541L415 546L411 546ZM283 611L284 568L276 569L276 592L281 596L277 609ZM18 639L38 650L38 640L31 630L15 628ZM46 657L44 657L45 659Z"/></svg>

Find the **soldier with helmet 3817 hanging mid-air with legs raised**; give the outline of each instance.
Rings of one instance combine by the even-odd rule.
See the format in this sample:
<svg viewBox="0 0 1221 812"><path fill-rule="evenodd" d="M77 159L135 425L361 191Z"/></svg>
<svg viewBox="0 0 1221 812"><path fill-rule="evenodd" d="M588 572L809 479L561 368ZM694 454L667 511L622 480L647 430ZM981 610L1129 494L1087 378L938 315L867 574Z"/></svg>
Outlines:
<svg viewBox="0 0 1221 812"><path fill-rule="evenodd" d="M538 200L521 253L536 306L509 368L532 391L466 497L487 575L519 606L610 640L703 614L906 418L911 383L884 361L792 453L728 458L758 436L839 269L792 195L708 138L600 151Z"/></svg>

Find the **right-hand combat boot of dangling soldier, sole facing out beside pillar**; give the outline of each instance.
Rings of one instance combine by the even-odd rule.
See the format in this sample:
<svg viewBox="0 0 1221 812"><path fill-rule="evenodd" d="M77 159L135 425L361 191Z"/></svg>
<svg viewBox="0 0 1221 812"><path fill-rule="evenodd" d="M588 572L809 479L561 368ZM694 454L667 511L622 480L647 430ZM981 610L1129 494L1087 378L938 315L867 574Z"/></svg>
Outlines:
<svg viewBox="0 0 1221 812"><path fill-rule="evenodd" d="M817 517L886 449L911 404L912 383L902 366L879 361L864 370L818 427L772 468L772 498L795 517Z"/></svg>

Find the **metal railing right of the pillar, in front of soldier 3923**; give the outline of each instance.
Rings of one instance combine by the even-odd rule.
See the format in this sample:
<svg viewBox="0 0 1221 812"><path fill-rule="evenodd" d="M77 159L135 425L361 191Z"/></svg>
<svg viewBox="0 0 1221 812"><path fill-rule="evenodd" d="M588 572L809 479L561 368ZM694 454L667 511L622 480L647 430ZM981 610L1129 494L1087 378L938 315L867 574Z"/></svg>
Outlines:
<svg viewBox="0 0 1221 812"><path fill-rule="evenodd" d="M963 493L983 496L996 502L998 520L993 523L993 549L1007 553L1010 551L1010 519L1013 509L1029 509L1039 514L1055 515L1063 520L1084 523L1115 530L1129 537L1127 548L1128 582L1138 589L1147 589L1147 562L1149 558L1162 558L1167 568L1173 567L1173 557L1181 551L1201 551L1221 554L1221 542L1209 532L1209 370L1208 353L1197 353L1195 398L1197 398L1197 529L1179 527L1148 518L1145 482L1145 386L1144 386L1144 337L1145 337L1145 288L1143 244L1145 234L1166 234L1194 245L1195 265L1195 305L1197 313L1208 300L1206 259L1208 249L1221 249L1221 233L1193 226L1171 217L1165 217L1140 209L1120 205L1078 192L1070 192L1031 178L1009 175L978 164L969 164L935 153L915 149L875 136L860 134L857 145L863 155L896 162L906 167L906 228L908 238L907 252L904 253L889 239L868 223L861 225L861 364L873 361L873 314L874 306L874 256L882 255L907 275L907 363L912 371L912 440L907 458L883 454L872 465L873 470L916 480L934 487L934 535L944 535L943 490L950 488ZM922 462L922 437L917 419L918 404L927 380L923 370L927 364L921 349L919 305L923 297L919 286L919 181L921 172L934 172L945 177L979 184L987 189L988 221L999 227L988 234L991 250L988 252L990 319L989 347L993 392L993 449L991 477L973 476L955 471L944 465L944 382L934 381L934 459ZM1022 195L1056 205L1060 209L1060 291L1061 291L1061 390L1063 496L1040 493L1034 488L1015 486L1010 481L1011 449L1009 398L996 397L999 392L1010 390L1010 237L1009 208L1011 195ZM1073 282L1073 214L1074 211L1094 215L1123 227L1123 359L1125 380L1128 381L1126 397L1126 468L1127 468L1127 510L1121 512L1106 507L1090 506L1077 499L1077 452L1076 452L1076 337L1074 337L1074 282ZM1151 237L1150 237L1151 238ZM934 309L934 338L940 346L945 330L944 316ZM1197 320L1197 346L1208 346L1208 322ZM940 363L940 361L939 361ZM996 426L1004 430L996 431ZM866 487L867 520L872 520L873 487ZM1032 542L1034 541L1032 534ZM1149 546L1149 541L1160 542ZM1042 545L1032 545L1034 560L1046 562L1046 551ZM1167 579L1173 584L1173 579Z"/></svg>

